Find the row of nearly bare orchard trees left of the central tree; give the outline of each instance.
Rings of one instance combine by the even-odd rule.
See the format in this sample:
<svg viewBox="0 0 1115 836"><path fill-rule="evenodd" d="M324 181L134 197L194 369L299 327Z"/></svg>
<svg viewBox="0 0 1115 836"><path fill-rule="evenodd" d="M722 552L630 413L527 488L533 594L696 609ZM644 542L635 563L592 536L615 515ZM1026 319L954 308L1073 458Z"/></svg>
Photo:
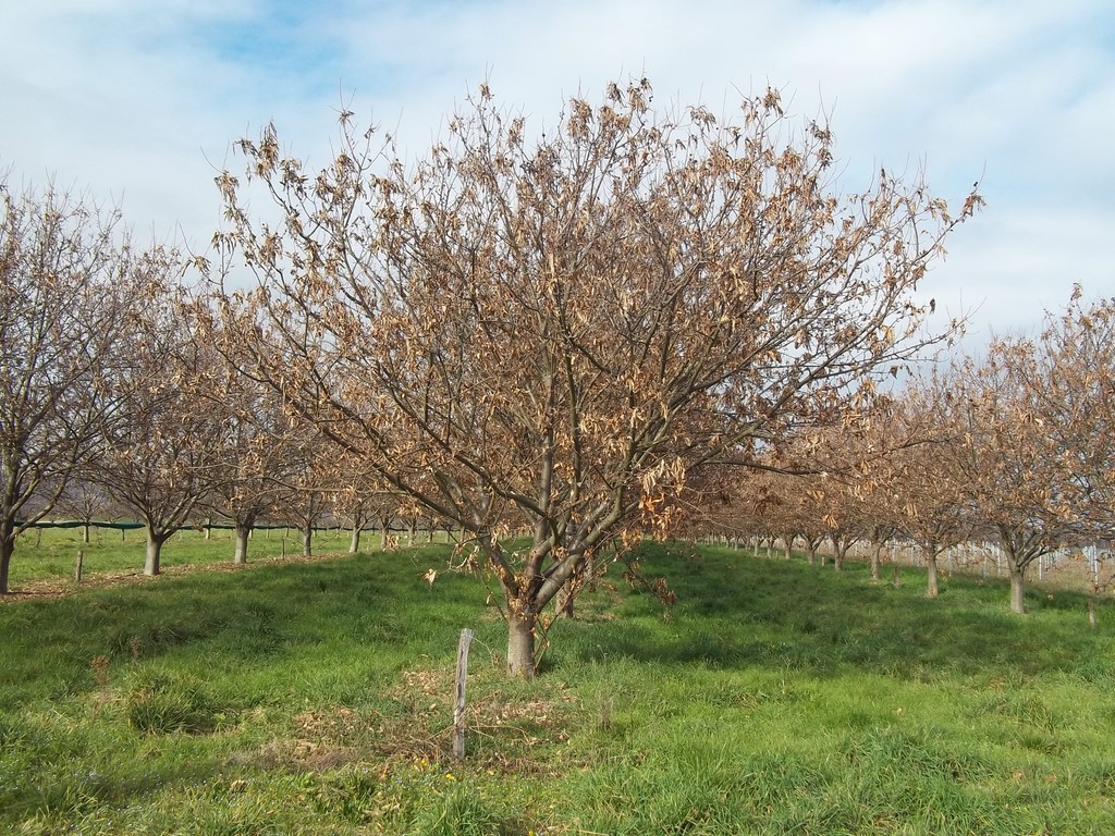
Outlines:
<svg viewBox="0 0 1115 836"><path fill-rule="evenodd" d="M353 538L397 516L397 494L339 470L216 350L213 298L187 290L178 253L134 247L117 213L54 189L0 196L0 594L19 534L56 511L142 522L147 574L205 518L234 525L242 563L263 516L306 552L327 513Z"/></svg>

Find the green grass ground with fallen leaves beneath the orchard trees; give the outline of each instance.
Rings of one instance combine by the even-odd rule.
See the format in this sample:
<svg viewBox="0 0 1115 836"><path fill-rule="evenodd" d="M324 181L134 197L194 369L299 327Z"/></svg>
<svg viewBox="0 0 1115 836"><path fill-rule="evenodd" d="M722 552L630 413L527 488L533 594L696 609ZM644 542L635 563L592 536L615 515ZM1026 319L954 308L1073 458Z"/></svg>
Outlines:
<svg viewBox="0 0 1115 836"><path fill-rule="evenodd" d="M894 589L860 564L648 546L677 605L617 574L520 682L476 580L421 579L445 558L0 605L0 832L1115 832L1115 614L1089 630L1082 595L1035 586L1019 618L1004 586L957 576L928 601L913 570Z"/></svg>

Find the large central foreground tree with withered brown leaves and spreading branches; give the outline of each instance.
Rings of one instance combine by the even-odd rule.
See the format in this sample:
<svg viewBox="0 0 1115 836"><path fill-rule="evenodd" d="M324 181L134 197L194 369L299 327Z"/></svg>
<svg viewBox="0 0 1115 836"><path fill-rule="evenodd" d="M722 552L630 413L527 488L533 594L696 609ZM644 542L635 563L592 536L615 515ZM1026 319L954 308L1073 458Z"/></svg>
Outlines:
<svg viewBox="0 0 1115 836"><path fill-rule="evenodd" d="M268 127L219 177L214 270L259 283L225 312L281 341L244 371L468 533L514 675L603 544L669 531L689 469L830 420L932 339L912 292L979 202L882 171L835 194L827 125L792 129L775 90L724 124L652 98L611 85L532 137L485 86L413 164L346 111L320 172Z"/></svg>

